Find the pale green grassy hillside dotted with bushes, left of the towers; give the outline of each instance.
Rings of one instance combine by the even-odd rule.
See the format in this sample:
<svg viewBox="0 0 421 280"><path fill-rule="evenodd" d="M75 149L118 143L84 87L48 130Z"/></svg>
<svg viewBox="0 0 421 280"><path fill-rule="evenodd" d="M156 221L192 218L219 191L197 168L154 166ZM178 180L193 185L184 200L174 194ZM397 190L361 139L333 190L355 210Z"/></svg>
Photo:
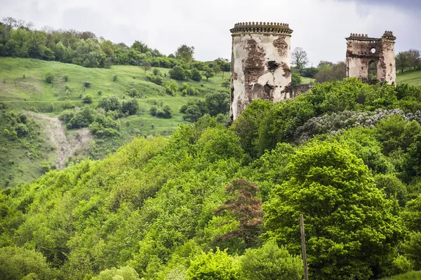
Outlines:
<svg viewBox="0 0 421 280"><path fill-rule="evenodd" d="M60 139L59 141L55 139L55 134L60 133L60 130L53 130L53 126L57 125L55 120L65 108L86 105L83 104L81 97L86 95L93 97L91 107L95 108L101 97L116 95L120 99L126 99L129 90L134 88L141 94L141 97L138 97L140 110L133 116L116 120L119 123L119 137L94 139L91 144L80 145L83 142L80 139L81 134L86 134L85 132L66 130L63 126L67 142L69 142L67 144L72 145L73 141L76 142L76 146L81 146L66 148L72 152L65 153L67 163L87 155L91 155L91 158L102 158L131 141L135 136L147 137L158 134L167 137L171 135L180 123L186 123L180 113L183 104L194 99L204 99L206 94L222 90L222 81L229 80L228 73L225 73L224 79L222 79L222 73L218 73L208 81L204 77L201 82L190 80L189 82L199 90L199 94L183 97L181 92L178 92L173 97L166 94L161 85L147 80L147 74L152 74L152 70L145 73L138 66L92 69L39 59L0 57L0 102L4 104L4 116L0 121L0 132L2 132L0 141L3 144L0 155L0 182L6 182L5 185L23 183L42 174L41 167L44 169L48 166L60 167L58 161L60 156L63 156L63 144ZM159 69L164 76L164 81L170 80L168 70ZM48 72L55 75L54 82L51 84L46 83L44 78ZM65 76L68 77L67 81ZM114 76L116 76L115 81ZM85 81L91 83L91 86L83 90L82 85ZM171 106L173 118L156 118L149 114L151 106L166 104ZM38 113L25 137L11 139L10 135L4 133L5 128L11 129L9 127L11 123L19 123L15 117L6 120L6 114L11 111L16 116L19 116L22 111ZM31 119L29 116L29 120ZM85 137L85 139L92 138ZM34 153L34 151L39 151L39 153Z"/></svg>

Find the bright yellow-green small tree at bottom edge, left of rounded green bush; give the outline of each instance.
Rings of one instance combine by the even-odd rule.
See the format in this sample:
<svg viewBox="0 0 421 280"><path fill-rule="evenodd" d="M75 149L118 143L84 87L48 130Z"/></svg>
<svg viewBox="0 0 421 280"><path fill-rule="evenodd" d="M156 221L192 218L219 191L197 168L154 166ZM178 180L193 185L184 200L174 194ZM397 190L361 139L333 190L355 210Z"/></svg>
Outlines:
<svg viewBox="0 0 421 280"><path fill-rule="evenodd" d="M234 260L226 251L210 251L198 255L187 269L189 280L235 280L239 279Z"/></svg>

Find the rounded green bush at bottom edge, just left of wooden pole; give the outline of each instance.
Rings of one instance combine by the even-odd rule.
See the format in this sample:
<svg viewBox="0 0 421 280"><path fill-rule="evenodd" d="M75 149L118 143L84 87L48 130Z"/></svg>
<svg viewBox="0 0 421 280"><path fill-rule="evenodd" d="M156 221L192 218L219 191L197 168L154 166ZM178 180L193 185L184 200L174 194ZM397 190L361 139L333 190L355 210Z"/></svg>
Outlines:
<svg viewBox="0 0 421 280"><path fill-rule="evenodd" d="M261 248L248 249L240 258L241 279L300 280L303 274L300 255L290 255L274 240L267 241Z"/></svg>

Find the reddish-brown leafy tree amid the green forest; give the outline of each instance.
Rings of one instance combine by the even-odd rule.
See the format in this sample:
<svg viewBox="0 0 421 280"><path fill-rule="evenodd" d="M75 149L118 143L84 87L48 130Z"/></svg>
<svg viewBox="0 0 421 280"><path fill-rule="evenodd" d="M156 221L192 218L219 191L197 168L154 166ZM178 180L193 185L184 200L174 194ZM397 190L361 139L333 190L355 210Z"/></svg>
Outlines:
<svg viewBox="0 0 421 280"><path fill-rule="evenodd" d="M231 213L239 221L239 228L225 233L222 239L241 237L246 248L252 246L262 230L262 200L257 197L259 188L245 179L235 179L225 188L229 197L217 213Z"/></svg>

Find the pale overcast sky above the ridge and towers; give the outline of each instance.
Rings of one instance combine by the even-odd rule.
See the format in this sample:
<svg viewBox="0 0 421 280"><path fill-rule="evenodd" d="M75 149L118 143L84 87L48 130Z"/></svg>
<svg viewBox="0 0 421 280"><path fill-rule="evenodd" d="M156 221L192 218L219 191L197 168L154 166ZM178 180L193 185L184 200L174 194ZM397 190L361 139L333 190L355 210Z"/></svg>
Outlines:
<svg viewBox="0 0 421 280"><path fill-rule="evenodd" d="M236 22L287 22L292 48L304 48L314 66L345 60L350 33L394 31L396 51L421 50L421 0L0 0L0 18L40 29L93 31L114 43L140 40L164 54L186 43L195 57L231 57Z"/></svg>

